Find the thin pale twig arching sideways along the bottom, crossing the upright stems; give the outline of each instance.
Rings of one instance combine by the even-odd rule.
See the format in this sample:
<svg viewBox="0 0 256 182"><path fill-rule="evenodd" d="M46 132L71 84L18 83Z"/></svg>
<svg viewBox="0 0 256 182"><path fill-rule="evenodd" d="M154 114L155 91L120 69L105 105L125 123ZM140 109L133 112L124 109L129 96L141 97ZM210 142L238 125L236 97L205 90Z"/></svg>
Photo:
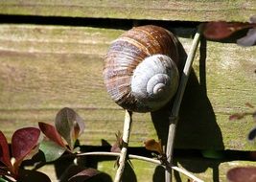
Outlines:
<svg viewBox="0 0 256 182"><path fill-rule="evenodd" d="M88 156L88 155L97 155L97 156L119 156L120 153L118 152L107 152L107 151L93 151L93 152L85 152L85 153L80 153L77 154L77 156ZM128 154L128 158L129 159L137 159L137 160L142 160L142 161L146 161L146 162L151 162L153 164L156 165L162 165L161 162L159 160L156 159L151 159L149 157L144 157L144 156L139 156L139 155L132 155L132 154ZM163 166L165 167L165 166ZM193 179L195 182L203 182L201 179L198 179L198 177L194 176L193 174L191 174L189 171L185 171L181 168L172 166L171 164L169 165L170 168L172 168L175 171L179 171L180 173L183 173L184 175L188 176L189 178Z"/></svg>

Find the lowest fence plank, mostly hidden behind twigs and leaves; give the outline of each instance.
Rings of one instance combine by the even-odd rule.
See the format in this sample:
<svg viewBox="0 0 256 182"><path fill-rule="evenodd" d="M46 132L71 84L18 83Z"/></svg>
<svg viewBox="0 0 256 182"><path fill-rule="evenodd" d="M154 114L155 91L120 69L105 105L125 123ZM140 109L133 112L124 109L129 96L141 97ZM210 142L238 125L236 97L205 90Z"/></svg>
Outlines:
<svg viewBox="0 0 256 182"><path fill-rule="evenodd" d="M177 166L194 173L199 179L203 181L226 181L226 172L236 167L255 166L255 162L249 161L228 161L218 162L207 159L178 159ZM98 170L105 173L104 182L110 182L115 176L116 169L114 168L114 160L101 161L97 163ZM128 169L126 179L128 181L164 181L164 169L144 161L131 160L133 169ZM39 171L46 173L53 182L57 182L58 178L55 174L53 165L44 166ZM184 174L175 173L174 181L187 181L188 177Z"/></svg>

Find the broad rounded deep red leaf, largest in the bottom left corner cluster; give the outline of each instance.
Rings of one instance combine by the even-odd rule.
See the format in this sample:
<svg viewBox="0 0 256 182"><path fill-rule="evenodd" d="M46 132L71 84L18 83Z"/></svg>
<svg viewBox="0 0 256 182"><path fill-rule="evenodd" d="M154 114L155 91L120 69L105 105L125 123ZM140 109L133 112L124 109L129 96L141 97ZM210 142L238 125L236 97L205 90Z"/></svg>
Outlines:
<svg viewBox="0 0 256 182"><path fill-rule="evenodd" d="M12 135L12 156L15 158L15 167L18 167L22 160L37 145L40 130L35 127L24 127L16 130Z"/></svg>

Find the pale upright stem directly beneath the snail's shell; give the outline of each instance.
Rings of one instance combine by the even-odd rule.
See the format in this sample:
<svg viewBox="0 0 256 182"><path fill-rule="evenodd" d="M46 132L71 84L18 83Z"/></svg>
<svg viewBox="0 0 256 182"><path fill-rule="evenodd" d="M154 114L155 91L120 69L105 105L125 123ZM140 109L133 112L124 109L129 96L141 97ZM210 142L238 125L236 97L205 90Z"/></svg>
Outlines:
<svg viewBox="0 0 256 182"><path fill-rule="evenodd" d="M119 167L116 171L114 182L120 182L122 179L122 175L125 171L127 155L128 155L128 140L129 140L129 133L130 133L130 125L132 123L131 115L132 115L132 112L126 110L124 130L123 130L123 147L121 149Z"/></svg>

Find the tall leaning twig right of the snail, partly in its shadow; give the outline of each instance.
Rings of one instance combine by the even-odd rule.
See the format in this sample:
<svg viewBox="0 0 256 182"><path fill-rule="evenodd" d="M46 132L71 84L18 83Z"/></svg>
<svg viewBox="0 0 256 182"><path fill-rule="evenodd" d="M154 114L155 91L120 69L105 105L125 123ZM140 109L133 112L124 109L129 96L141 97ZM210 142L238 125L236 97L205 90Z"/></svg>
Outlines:
<svg viewBox="0 0 256 182"><path fill-rule="evenodd" d="M179 108L180 108L180 103L182 101L184 91L186 88L186 84L189 79L189 74L190 74L190 71L192 68L192 63L193 63L194 57L197 52L199 39L200 39L200 30L198 29L198 33L195 34L195 37L192 42L191 50L189 52L189 55L187 57L187 60L186 60L186 63L185 63L184 69L183 69L180 84L179 84L179 87L177 90L177 94L175 96L175 102L174 102L174 106L173 106L173 109L171 112L171 117L169 118L170 124L169 124L169 133L168 133L166 154L167 154L168 163L170 163L170 164L173 164L175 128L176 128L176 124L177 124L177 120L178 120L178 112L179 112ZM165 181L172 182L172 170L169 170L168 168L165 172Z"/></svg>

